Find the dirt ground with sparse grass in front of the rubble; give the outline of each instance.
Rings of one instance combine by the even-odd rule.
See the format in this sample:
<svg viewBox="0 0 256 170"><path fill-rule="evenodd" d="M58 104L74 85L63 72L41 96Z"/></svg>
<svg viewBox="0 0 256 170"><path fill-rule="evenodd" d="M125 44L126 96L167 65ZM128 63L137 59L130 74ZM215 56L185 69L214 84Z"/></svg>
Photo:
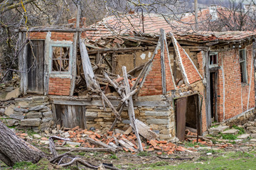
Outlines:
<svg viewBox="0 0 256 170"><path fill-rule="evenodd" d="M29 136L29 135L28 135ZM195 169L200 169L202 164L210 164L210 160L215 160L217 158L234 159L233 155L230 156L230 153L241 153L238 156L239 159L250 159L255 157L256 143L254 140L247 138L245 140L219 140L216 139L216 143L219 145L230 144L225 148L218 147L209 147L202 145L201 143L193 143L193 142L178 142L176 145L186 147L185 152L175 152L174 154L157 154L157 151L154 152L124 152L119 151L117 153L108 153L108 152L71 152L71 154L75 155L75 157L80 157L84 159L86 162L90 162L93 165L100 164L108 164L110 166L115 166L119 169L180 169L179 165L186 164L195 164ZM28 142L32 145L35 145L39 149L43 150L48 157L52 157L47 145L39 145L32 138L28 137ZM195 151L188 150L195 149ZM58 152L58 154L62 154L64 152ZM244 155L246 154L246 155ZM229 156L225 156L229 155ZM249 157L249 156L250 157ZM235 169L235 166L233 167ZM85 166L82 165L73 165L65 168L61 168L59 166L53 166L49 162L39 162L36 166L31 164L17 164L13 168L6 167L3 163L0 164L0 169L86 169ZM181 169L183 169L181 167ZM190 168L184 169L194 169L192 166ZM203 168L204 169L204 168ZM207 168L208 169L208 168ZM209 168L210 169L210 168ZM230 169L230 168L223 168ZM232 169L232 168L231 168ZM254 169L252 167L252 169Z"/></svg>

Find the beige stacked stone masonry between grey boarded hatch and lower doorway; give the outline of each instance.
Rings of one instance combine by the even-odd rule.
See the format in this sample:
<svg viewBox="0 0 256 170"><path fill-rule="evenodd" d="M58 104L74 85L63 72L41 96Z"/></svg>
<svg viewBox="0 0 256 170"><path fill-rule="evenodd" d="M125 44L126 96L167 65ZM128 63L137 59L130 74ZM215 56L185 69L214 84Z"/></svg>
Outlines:
<svg viewBox="0 0 256 170"><path fill-rule="evenodd" d="M135 117L149 125L149 128L154 130L161 140L175 137L175 118L171 106L135 106L134 113ZM115 118L110 108L103 111L102 106L86 106L85 116L88 129L94 127L101 130L110 128ZM122 111L121 117L122 121L117 121L117 128L125 130L130 124L126 109Z"/></svg>

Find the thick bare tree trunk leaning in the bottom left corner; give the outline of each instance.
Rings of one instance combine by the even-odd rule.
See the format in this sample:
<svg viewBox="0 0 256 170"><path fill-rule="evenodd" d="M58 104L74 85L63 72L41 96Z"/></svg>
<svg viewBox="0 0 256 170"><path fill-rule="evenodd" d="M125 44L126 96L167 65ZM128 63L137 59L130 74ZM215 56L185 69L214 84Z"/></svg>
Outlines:
<svg viewBox="0 0 256 170"><path fill-rule="evenodd" d="M17 137L0 121L0 160L8 166L16 162L38 162L46 155L36 147Z"/></svg>

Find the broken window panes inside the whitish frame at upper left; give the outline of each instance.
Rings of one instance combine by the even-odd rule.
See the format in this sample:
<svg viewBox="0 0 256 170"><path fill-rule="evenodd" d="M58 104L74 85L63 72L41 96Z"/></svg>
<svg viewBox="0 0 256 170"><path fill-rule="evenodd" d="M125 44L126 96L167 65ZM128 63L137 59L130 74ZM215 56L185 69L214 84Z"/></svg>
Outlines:
<svg viewBox="0 0 256 170"><path fill-rule="evenodd" d="M70 47L52 46L52 72L69 72Z"/></svg>

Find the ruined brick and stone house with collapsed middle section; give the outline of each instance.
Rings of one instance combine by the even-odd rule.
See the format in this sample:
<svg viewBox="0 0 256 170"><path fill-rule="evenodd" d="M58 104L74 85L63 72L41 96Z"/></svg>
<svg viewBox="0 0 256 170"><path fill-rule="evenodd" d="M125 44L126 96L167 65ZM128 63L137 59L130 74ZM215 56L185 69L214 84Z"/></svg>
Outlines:
<svg viewBox="0 0 256 170"><path fill-rule="evenodd" d="M88 32L97 28L68 26L19 30L21 91L48 96L57 125L127 128L122 66L135 117L161 140L254 116L255 32L161 29L95 40Z"/></svg>

